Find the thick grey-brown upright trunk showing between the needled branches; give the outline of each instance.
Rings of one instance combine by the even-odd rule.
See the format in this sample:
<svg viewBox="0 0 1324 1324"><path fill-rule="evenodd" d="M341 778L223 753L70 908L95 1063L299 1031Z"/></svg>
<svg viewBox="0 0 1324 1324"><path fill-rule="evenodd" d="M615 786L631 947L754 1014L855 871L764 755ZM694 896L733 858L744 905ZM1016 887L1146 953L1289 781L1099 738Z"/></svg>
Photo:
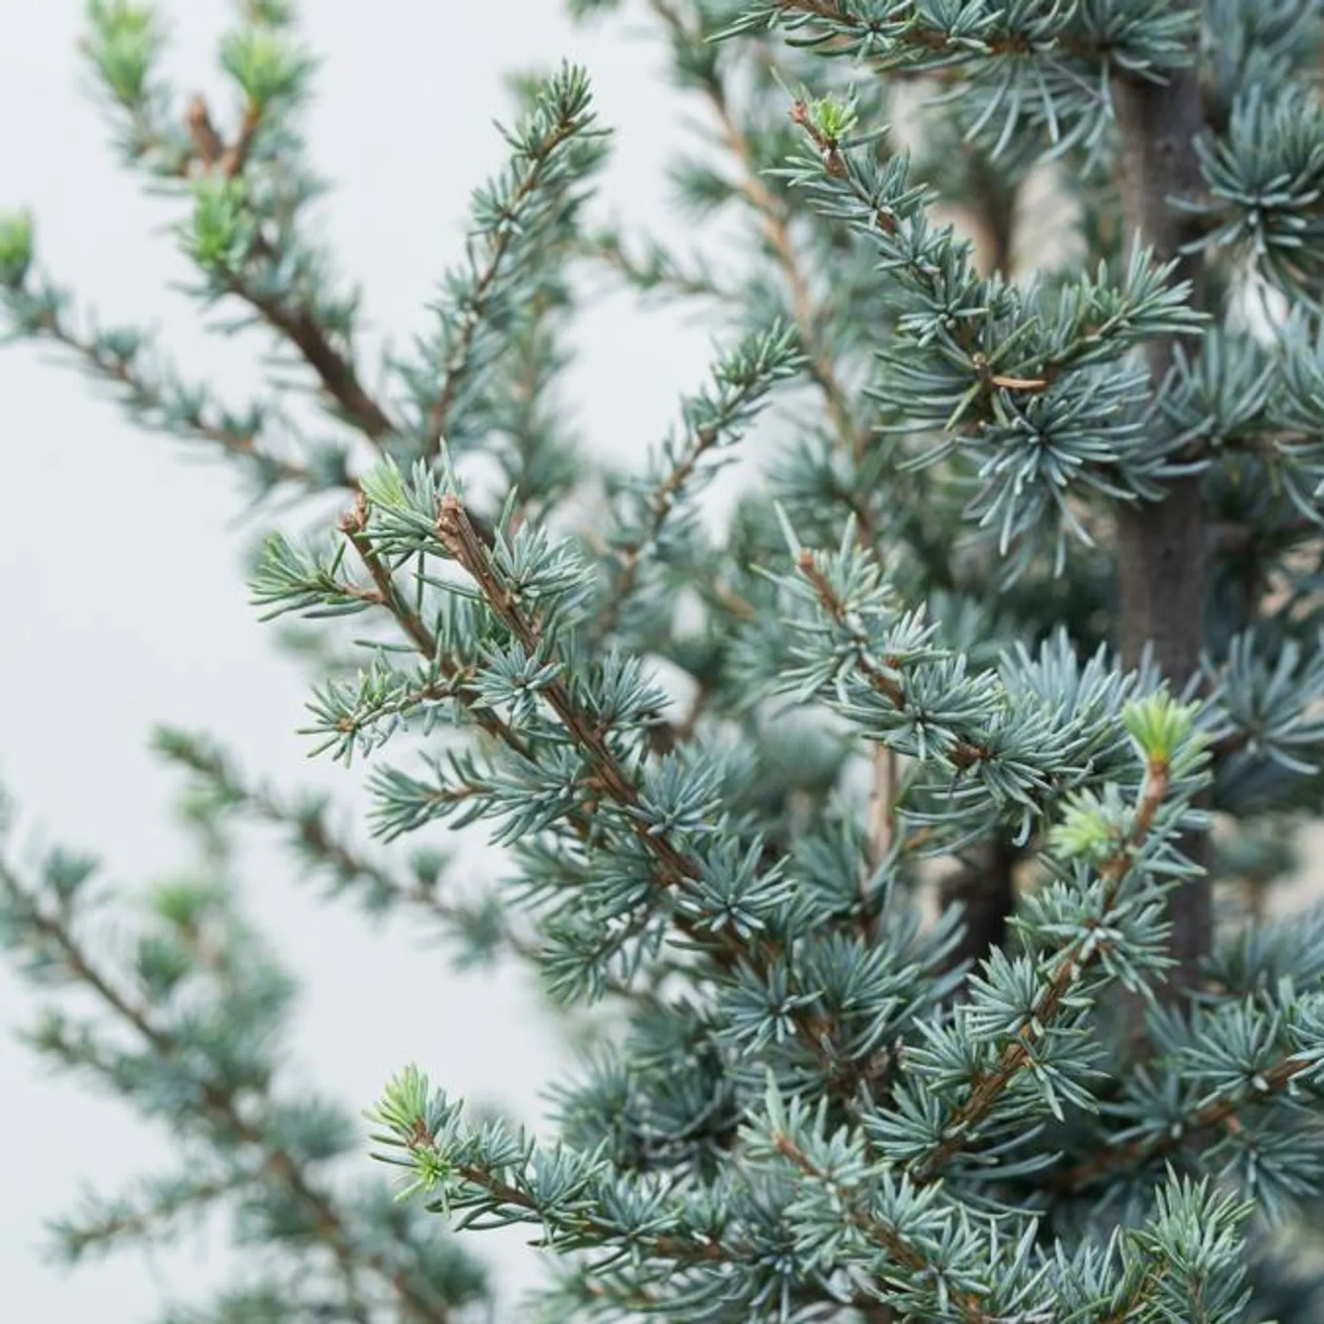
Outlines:
<svg viewBox="0 0 1324 1324"><path fill-rule="evenodd" d="M1172 205L1174 196L1200 191L1194 139L1204 127L1200 73L1178 70L1166 83L1116 78L1113 111L1121 131L1121 196L1128 248L1148 245L1158 261L1177 260L1177 278L1192 282L1193 302L1204 301L1198 254L1182 253L1192 237L1190 218ZM1155 383L1173 361L1174 343L1148 347ZM1164 500L1117 510L1117 646L1133 666L1148 645L1174 692L1200 663L1205 639L1209 531L1198 478L1180 478ZM1196 863L1207 866L1209 841L1189 834L1181 843ZM1189 986L1194 963L1209 949L1209 883L1196 879L1177 888L1170 903L1176 986Z"/></svg>

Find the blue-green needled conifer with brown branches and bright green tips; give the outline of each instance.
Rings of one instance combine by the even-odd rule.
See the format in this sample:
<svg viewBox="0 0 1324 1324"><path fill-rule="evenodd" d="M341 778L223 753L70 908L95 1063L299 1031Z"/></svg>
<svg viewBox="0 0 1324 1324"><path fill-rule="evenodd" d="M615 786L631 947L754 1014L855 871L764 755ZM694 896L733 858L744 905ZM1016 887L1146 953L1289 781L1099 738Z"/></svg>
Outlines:
<svg viewBox="0 0 1324 1324"><path fill-rule="evenodd" d="M307 233L291 7L241 5L222 127L159 79L152 11L90 7L120 147L191 199L199 298L293 356L318 432L279 381L228 406L98 328L25 216L8 330L310 499L252 593L312 671L310 749L367 764L376 843L164 731L204 863L136 945L98 936L89 862L4 865L20 968L99 1002L34 1046L187 1147L64 1247L224 1207L242 1282L169 1316L217 1324L485 1317L467 1250L506 1225L549 1321L1316 1319L1317 1255L1282 1247L1324 1192L1324 920L1260 911L1324 792L1319 7L634 9L719 144L678 203L748 242L602 225L588 75L524 79L429 331L369 373ZM1173 146L1152 107L1182 89ZM600 467L563 401L604 278L719 344ZM356 1137L290 1080L289 981L226 894L248 822L594 1009L538 1133L406 1067L372 1111L400 1198L339 1181Z"/></svg>

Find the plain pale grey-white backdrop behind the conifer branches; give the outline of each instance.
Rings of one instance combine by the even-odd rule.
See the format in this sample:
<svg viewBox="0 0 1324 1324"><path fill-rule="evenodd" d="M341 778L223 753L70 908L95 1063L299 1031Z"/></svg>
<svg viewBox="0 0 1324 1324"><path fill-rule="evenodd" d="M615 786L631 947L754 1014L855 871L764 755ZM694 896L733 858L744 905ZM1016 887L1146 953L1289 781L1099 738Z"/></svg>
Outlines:
<svg viewBox="0 0 1324 1324"><path fill-rule="evenodd" d="M246 350L204 336L163 233L175 208L144 196L109 144L77 57L81 0L0 0L0 207L30 207L40 265L103 323L156 324L191 375L242 387ZM168 68L183 93L218 81L225 0L163 0ZM500 160L502 75L587 64L604 122L620 130L604 214L657 229L662 166L685 140L662 52L620 20L575 30L560 0L306 0L305 32L324 58L308 120L314 159L335 184L328 237L361 281L369 324L397 344L425 324L437 277L459 253L469 191ZM639 454L679 392L702 380L710 335L629 297L585 319L575 396L591 441ZM224 465L134 429L105 392L50 351L0 351L5 585L0 642L0 782L23 826L90 849L131 884L189 861L171 821L179 781L147 751L168 722L218 733L245 767L282 785L347 794L361 777L307 763L295 735L306 690L248 605L246 543ZM548 1023L506 978L459 977L406 925L371 931L350 904L320 904L277 850L256 851L246 895L305 984L297 1050L319 1084L355 1108L418 1061L448 1087L527 1120L555 1070ZM130 1324L214 1278L216 1239L152 1260L115 1255L71 1275L37 1253L41 1223L79 1185L117 1192L167 1157L166 1136L78 1083L38 1071L12 1031L34 1002L0 967L0 1313L16 1321ZM490 1235L477 1239L493 1245ZM503 1279L528 1280L507 1242ZM510 1317L508 1315L506 1317Z"/></svg>

